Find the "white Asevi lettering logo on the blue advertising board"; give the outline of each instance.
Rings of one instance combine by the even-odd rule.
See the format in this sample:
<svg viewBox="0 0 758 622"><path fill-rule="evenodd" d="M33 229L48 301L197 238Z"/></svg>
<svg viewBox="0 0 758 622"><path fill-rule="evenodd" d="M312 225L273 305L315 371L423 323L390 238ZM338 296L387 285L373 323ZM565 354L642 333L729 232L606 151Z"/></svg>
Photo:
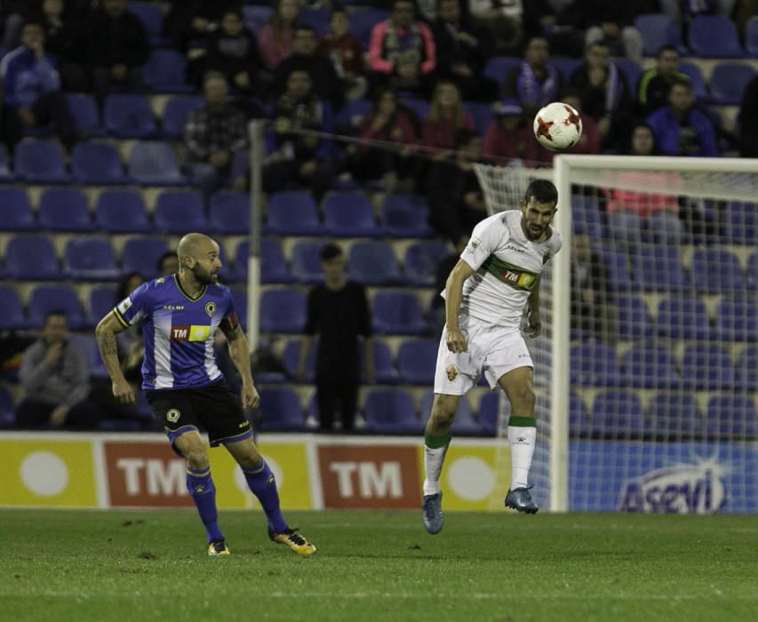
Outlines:
<svg viewBox="0 0 758 622"><path fill-rule="evenodd" d="M715 514L726 503L721 479L725 472L713 458L648 471L626 482L620 509L650 514Z"/></svg>

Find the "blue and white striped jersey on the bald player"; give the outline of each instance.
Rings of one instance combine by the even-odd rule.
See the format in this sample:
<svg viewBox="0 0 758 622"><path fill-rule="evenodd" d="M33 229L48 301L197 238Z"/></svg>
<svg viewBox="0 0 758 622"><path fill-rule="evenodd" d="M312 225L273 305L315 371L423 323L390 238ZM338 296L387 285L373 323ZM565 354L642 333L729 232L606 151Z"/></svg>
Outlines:
<svg viewBox="0 0 758 622"><path fill-rule="evenodd" d="M199 388L221 378L213 338L219 326L237 325L225 285L207 285L192 299L177 275L161 276L142 283L113 312L124 327L142 323L143 389Z"/></svg>

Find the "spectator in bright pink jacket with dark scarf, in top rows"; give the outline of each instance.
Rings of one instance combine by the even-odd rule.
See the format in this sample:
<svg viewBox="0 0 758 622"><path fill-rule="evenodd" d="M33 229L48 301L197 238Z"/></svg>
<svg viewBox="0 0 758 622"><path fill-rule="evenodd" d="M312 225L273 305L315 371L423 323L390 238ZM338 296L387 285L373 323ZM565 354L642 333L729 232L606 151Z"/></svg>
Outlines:
<svg viewBox="0 0 758 622"><path fill-rule="evenodd" d="M412 0L394 0L389 20L371 29L369 68L374 88L391 84L396 90L426 94L434 84L435 37L415 20Z"/></svg>

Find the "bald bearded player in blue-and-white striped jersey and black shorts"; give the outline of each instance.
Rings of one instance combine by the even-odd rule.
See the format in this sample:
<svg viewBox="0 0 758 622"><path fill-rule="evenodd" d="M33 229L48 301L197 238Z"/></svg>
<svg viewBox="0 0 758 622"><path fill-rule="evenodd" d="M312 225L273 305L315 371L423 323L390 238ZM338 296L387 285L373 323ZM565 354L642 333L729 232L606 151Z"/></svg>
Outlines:
<svg viewBox="0 0 758 622"><path fill-rule="evenodd" d="M122 403L135 401L118 363L115 335L141 323L145 342L142 389L173 450L187 460L187 488L205 527L208 554L227 555L229 549L218 525L216 489L201 429L208 433L211 447L223 444L242 467L266 513L268 537L295 553L314 554L315 546L284 521L274 474L253 443L250 421L243 413L243 406L258 406L259 395L231 292L218 283L219 244L207 235L191 233L181 238L177 255L177 274L141 284L95 330L113 395ZM216 366L213 339L217 330L226 335L242 377L242 404Z"/></svg>

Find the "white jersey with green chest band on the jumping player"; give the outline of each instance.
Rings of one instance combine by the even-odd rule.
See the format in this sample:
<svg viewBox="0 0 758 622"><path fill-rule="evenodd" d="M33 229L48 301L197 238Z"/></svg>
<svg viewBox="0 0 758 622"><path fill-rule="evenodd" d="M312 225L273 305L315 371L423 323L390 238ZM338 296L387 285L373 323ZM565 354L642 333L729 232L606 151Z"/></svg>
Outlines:
<svg viewBox="0 0 758 622"><path fill-rule="evenodd" d="M483 219L460 254L475 270L463 283L460 312L514 331L545 263L562 244L552 226L547 240L532 242L523 232L522 218L521 210L509 210Z"/></svg>

